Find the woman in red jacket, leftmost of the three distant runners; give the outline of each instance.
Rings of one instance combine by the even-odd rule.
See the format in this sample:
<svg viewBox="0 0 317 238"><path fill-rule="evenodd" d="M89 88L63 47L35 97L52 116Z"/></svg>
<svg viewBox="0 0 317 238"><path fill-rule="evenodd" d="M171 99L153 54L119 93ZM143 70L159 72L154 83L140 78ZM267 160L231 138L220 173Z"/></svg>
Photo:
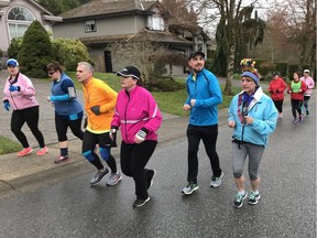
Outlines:
<svg viewBox="0 0 317 238"><path fill-rule="evenodd" d="M278 110L278 117L283 116L283 101L284 90L287 88L286 83L278 76L278 73L273 73L273 78L269 86L269 93L274 101L276 109Z"/></svg>

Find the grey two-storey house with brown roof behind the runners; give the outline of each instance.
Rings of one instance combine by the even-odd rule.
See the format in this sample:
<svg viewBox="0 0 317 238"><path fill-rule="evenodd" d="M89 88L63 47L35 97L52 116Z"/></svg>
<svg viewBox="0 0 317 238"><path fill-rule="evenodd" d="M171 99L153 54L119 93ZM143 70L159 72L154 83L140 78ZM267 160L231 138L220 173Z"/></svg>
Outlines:
<svg viewBox="0 0 317 238"><path fill-rule="evenodd" d="M112 42L138 41L146 34L149 41L183 55L198 47L194 41L168 31L170 13L158 1L92 0L59 17L63 22L53 25L53 36L79 39L88 47L99 72L122 69L109 50ZM206 51L206 42L200 41L200 44ZM166 67L167 74L184 74L185 69L183 65Z"/></svg>

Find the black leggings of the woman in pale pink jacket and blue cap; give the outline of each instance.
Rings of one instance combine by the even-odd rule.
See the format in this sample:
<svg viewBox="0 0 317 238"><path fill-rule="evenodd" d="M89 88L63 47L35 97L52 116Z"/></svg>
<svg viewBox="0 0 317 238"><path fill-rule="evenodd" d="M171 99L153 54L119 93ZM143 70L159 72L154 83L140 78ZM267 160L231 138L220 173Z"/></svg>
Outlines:
<svg viewBox="0 0 317 238"><path fill-rule="evenodd" d="M40 148L45 147L43 134L39 130L39 106L22 110L13 110L11 117L11 131L14 133L23 148L30 147L25 134L21 131L24 122L26 122L28 127L36 138Z"/></svg>

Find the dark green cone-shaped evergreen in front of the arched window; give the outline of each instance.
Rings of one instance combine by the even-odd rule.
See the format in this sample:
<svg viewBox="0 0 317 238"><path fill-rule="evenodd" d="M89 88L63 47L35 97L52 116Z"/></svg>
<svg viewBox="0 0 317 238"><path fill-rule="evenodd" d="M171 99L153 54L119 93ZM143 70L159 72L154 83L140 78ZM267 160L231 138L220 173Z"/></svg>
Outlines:
<svg viewBox="0 0 317 238"><path fill-rule="evenodd" d="M34 21L25 32L18 54L21 72L30 77L46 77L44 68L52 60L50 35L39 21Z"/></svg>

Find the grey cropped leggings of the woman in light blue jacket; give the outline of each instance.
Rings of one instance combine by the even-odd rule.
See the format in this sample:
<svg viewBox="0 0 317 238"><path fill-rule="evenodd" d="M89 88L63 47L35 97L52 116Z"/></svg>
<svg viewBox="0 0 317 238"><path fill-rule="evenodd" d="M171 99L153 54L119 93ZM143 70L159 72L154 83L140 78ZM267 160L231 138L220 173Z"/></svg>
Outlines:
<svg viewBox="0 0 317 238"><path fill-rule="evenodd" d="M263 145L256 145L251 143L233 143L232 144L232 170L233 176L239 178L243 174L243 166L247 156L249 155L249 177L254 181L259 177L259 166L264 152Z"/></svg>

